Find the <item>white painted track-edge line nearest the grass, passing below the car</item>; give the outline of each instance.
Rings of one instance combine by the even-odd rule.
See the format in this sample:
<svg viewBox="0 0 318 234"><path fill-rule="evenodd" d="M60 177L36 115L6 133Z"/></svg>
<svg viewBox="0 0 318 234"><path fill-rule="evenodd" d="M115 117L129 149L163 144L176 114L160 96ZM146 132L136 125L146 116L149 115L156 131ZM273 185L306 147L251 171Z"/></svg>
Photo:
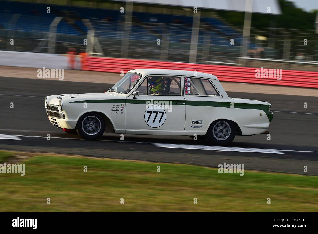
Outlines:
<svg viewBox="0 0 318 234"><path fill-rule="evenodd" d="M0 135L0 139L21 140L20 137L47 138L45 136ZM66 138L66 137L50 137L50 138L83 140L82 138ZM258 149L258 148L240 148L240 147L225 147L225 146L212 146L212 145L211 146L210 145L181 145L181 144L165 144L165 143L138 142L138 141L103 140L103 139L98 139L97 141L152 144L152 145L155 145L156 147L160 147L160 148L195 149L195 150L216 150L216 151L275 153L275 154L285 154L284 151L286 151L286 152L318 153L318 151L303 151L303 150Z"/></svg>

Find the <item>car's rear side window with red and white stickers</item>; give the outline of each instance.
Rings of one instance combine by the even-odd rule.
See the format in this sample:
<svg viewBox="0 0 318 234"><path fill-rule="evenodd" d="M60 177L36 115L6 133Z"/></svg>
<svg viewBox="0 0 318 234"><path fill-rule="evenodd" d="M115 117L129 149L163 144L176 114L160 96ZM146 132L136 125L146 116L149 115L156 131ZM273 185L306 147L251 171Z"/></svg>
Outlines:
<svg viewBox="0 0 318 234"><path fill-rule="evenodd" d="M209 79L184 77L184 95L220 96Z"/></svg>

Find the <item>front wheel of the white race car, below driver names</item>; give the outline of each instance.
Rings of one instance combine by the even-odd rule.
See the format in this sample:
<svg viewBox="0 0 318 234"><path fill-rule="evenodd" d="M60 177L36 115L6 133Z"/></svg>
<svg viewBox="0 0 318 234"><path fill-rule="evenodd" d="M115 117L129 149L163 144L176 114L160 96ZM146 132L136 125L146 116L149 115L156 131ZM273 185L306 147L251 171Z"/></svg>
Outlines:
<svg viewBox="0 0 318 234"><path fill-rule="evenodd" d="M96 140L105 131L105 120L98 113L86 113L79 118L76 131L85 140Z"/></svg>

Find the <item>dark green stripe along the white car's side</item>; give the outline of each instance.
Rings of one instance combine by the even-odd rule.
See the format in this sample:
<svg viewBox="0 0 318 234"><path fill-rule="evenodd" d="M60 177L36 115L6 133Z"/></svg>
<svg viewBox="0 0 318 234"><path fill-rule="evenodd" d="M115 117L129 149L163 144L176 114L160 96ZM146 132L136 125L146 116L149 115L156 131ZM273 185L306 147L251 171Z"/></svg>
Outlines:
<svg viewBox="0 0 318 234"><path fill-rule="evenodd" d="M151 102L151 100L140 100L140 99L107 99L107 100L85 100L85 101L75 101L72 103L132 103L132 104L146 104L146 102ZM209 101L182 101L182 100L153 100L153 102L172 102L172 105L180 105L176 104L179 102L185 102L187 106L211 106L211 107L224 107L231 108L230 102L209 102ZM254 110L264 110L266 113L269 122L272 121L273 115L269 111L267 104L251 104L251 103L234 103L234 108L238 109L254 109Z"/></svg>

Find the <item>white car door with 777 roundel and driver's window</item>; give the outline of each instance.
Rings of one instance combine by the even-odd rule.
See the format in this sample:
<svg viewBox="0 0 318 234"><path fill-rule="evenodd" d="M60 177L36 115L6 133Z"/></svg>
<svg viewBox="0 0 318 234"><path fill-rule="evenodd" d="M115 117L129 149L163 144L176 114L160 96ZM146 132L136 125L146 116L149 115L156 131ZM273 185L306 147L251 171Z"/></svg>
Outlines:
<svg viewBox="0 0 318 234"><path fill-rule="evenodd" d="M126 132L183 131L185 99L181 76L149 75L135 89L138 96L126 98Z"/></svg>

